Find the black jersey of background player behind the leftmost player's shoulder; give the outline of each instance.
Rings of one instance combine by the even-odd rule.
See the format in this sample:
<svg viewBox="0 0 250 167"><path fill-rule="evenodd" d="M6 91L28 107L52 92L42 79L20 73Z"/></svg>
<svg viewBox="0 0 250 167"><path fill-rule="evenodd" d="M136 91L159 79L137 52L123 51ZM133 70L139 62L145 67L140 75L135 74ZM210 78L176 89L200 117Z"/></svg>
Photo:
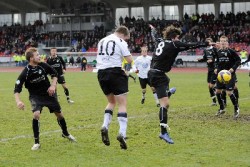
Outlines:
<svg viewBox="0 0 250 167"><path fill-rule="evenodd" d="M57 71L59 76L63 74L63 69L66 70L66 64L61 56L49 57L47 63Z"/></svg>

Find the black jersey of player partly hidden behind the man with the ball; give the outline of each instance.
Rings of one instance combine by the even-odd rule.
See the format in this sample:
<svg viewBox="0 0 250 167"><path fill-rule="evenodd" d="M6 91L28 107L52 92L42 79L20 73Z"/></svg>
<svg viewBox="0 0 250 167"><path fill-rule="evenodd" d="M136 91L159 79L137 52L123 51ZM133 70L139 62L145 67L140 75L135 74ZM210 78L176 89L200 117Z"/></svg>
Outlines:
<svg viewBox="0 0 250 167"><path fill-rule="evenodd" d="M212 62L207 62L208 71L214 71L214 64L216 58L216 49L214 47L209 47L204 49L203 58L199 60L199 62L207 62L207 60L212 60Z"/></svg>

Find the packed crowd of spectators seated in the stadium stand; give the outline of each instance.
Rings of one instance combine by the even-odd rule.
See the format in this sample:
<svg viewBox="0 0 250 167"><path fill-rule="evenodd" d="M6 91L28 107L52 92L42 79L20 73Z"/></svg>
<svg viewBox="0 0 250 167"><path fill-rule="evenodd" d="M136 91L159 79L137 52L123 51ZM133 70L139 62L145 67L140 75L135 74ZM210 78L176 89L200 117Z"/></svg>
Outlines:
<svg viewBox="0 0 250 167"><path fill-rule="evenodd" d="M98 41L112 31L105 25L94 25L92 30L72 31L49 31L46 29L46 25L52 24L52 21L56 20L58 23L71 24L67 19L73 15L74 17L83 16L84 21L90 21L92 16L104 20L103 16L109 15L107 11L110 11L110 6L104 2L94 1L82 2L78 6L71 2L65 4L66 2L68 3L65 1L57 6L52 5L49 13L56 17L45 23L42 20L36 20L32 25L12 24L0 27L0 57L22 55L31 46L40 46L44 51L43 54L47 54L46 49L51 47L62 47L65 48L64 51L70 52L96 52ZM61 21L58 19L59 16L63 16ZM90 20L86 20L86 18ZM136 19L134 16L121 16L119 20L120 24L127 26L131 32L128 45L132 53L140 53L142 45L148 46L149 53L154 51L155 46L148 24L157 28L158 35L167 25L179 26L183 31L182 40L185 42L204 41L207 37L218 41L221 35L226 35L231 48L237 52L242 49L250 52L250 11L236 14L220 12L218 17L213 13L200 15L185 13L181 21L154 17L151 20L144 20L143 18ZM180 55L202 54L203 51L200 49L180 53Z"/></svg>

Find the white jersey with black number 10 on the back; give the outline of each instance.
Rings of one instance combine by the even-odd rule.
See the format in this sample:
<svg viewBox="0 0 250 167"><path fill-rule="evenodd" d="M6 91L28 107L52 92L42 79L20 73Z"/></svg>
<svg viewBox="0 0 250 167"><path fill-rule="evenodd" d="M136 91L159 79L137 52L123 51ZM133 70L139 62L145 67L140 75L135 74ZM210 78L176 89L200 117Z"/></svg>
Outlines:
<svg viewBox="0 0 250 167"><path fill-rule="evenodd" d="M98 43L96 68L122 67L123 56L130 55L127 42L115 34L111 34Z"/></svg>

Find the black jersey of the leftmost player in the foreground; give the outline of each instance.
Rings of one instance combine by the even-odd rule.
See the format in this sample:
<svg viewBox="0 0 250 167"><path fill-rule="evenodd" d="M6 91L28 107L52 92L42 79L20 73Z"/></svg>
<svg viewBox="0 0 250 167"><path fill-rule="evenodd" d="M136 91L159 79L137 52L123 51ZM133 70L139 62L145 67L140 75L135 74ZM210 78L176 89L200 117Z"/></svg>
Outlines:
<svg viewBox="0 0 250 167"><path fill-rule="evenodd" d="M48 95L50 81L47 75L57 77L57 72L46 63L39 63L37 66L27 65L17 78L14 93L22 91L23 84L30 95Z"/></svg>

